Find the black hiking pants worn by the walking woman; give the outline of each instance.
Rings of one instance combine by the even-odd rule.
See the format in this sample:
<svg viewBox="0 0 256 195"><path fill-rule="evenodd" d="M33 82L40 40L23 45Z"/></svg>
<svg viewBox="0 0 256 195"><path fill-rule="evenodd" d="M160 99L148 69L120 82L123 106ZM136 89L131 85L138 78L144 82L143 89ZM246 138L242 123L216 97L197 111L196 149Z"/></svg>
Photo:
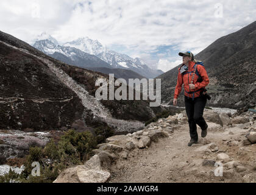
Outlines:
<svg viewBox="0 0 256 195"><path fill-rule="evenodd" d="M185 108L188 116L188 124L190 126L191 140L198 140L196 124L201 127L201 129L205 129L207 125L203 118L206 102L207 98L202 96L194 98L194 101L192 98L185 96Z"/></svg>

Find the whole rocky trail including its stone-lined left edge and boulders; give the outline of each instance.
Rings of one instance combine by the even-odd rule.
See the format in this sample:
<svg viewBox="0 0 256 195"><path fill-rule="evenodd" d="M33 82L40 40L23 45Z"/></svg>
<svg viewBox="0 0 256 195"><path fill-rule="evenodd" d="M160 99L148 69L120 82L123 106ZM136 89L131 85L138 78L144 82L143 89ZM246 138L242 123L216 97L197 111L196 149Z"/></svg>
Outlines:
<svg viewBox="0 0 256 195"><path fill-rule="evenodd" d="M207 138L188 147L183 113L152 122L143 130L107 138L87 161L54 181L108 183L256 182L256 115L230 118L205 109Z"/></svg>

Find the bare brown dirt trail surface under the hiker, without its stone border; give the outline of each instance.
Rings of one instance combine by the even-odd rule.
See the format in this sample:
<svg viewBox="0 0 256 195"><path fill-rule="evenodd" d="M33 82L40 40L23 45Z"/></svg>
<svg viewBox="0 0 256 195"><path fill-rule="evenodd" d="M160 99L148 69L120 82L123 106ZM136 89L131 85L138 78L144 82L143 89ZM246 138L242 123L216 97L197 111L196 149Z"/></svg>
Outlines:
<svg viewBox="0 0 256 195"><path fill-rule="evenodd" d="M200 135L200 128L197 132ZM252 177L256 182L256 146L242 143L247 132L238 127L212 129L207 138L188 147L190 136L184 122L170 137L119 160L108 182L247 182ZM223 154L229 157L222 158ZM223 177L215 176L216 161L222 161Z"/></svg>

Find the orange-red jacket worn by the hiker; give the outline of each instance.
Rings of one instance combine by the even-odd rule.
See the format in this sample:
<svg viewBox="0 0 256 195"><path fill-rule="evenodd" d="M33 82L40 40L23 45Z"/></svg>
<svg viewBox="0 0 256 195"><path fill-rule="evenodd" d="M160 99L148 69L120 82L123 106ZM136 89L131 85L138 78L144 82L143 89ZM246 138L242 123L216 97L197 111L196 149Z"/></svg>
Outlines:
<svg viewBox="0 0 256 195"><path fill-rule="evenodd" d="M190 61L189 65L188 65L188 72L194 71L195 64L196 63L194 63L193 61ZM204 66L197 65L196 69L197 69L199 75L202 77L202 82L201 83L196 82L198 79L198 76L195 74L193 84L196 85L196 89L190 90L189 84L191 84L191 80L193 78L194 73L184 74L182 76L182 74L180 74L180 68L179 68L179 74L178 74L177 85L176 85L176 89L175 89L175 93L174 93L174 98L178 98L180 91L182 90L183 84L184 84L185 96L187 96L188 98L193 98L193 93L192 94L187 93L187 92L193 92L193 91L197 91L194 93L194 98L197 98L200 96L201 91L198 91L198 90L200 90L201 88L205 88L208 85L208 83L210 82L210 80L208 78L208 75L207 75L207 72L205 71Z"/></svg>

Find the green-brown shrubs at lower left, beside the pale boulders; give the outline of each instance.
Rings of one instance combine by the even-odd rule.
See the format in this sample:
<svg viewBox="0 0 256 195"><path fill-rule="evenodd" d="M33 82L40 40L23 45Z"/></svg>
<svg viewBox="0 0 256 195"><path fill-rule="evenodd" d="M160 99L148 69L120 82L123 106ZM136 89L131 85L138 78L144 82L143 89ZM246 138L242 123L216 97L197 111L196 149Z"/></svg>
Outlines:
<svg viewBox="0 0 256 195"><path fill-rule="evenodd" d="M29 155L24 163L25 169L21 175L10 171L5 176L0 176L0 183L51 183L59 176L60 172L72 165L82 165L92 155L92 150L97 146L96 138L91 132L75 132L69 130L55 144L51 140L44 148L30 147ZM40 163L40 177L31 175L32 163Z"/></svg>

